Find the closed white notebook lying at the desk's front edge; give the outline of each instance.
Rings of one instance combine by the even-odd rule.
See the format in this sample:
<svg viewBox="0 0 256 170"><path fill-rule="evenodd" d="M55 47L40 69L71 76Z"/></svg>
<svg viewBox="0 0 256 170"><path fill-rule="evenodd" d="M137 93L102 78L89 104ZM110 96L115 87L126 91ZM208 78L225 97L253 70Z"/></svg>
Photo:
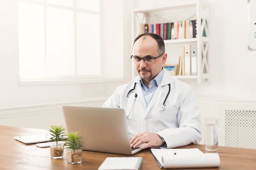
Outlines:
<svg viewBox="0 0 256 170"><path fill-rule="evenodd" d="M108 157L98 170L140 170L142 157Z"/></svg>

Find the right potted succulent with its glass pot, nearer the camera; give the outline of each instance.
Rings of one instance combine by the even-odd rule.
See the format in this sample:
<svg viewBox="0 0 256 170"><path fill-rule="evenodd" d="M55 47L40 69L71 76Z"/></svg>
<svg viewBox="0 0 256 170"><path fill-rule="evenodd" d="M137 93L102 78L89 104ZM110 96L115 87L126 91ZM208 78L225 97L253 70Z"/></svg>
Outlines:
<svg viewBox="0 0 256 170"><path fill-rule="evenodd" d="M64 144L67 149L67 162L70 164L82 163L82 136L78 132L67 133L67 140Z"/></svg>

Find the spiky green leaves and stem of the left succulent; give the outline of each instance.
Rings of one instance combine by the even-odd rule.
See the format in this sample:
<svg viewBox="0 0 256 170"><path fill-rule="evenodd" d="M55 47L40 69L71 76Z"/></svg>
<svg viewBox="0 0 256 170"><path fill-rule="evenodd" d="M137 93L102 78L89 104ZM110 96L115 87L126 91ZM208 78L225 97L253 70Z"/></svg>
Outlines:
<svg viewBox="0 0 256 170"><path fill-rule="evenodd" d="M58 141L65 141L67 139L65 128L62 125L51 125L51 129L49 130L52 137L50 138L52 142L56 142L58 147Z"/></svg>

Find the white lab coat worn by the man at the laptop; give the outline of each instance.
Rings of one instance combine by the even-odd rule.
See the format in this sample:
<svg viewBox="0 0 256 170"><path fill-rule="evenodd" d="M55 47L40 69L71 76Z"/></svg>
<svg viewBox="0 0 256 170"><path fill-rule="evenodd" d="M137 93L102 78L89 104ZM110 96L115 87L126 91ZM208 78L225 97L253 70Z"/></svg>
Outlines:
<svg viewBox="0 0 256 170"><path fill-rule="evenodd" d="M173 78L166 70L148 108L145 105L139 76L128 84L117 87L103 107L125 109L126 96L128 91L134 87L135 82L137 85L134 92L138 96L134 102L134 93L130 94L126 109L128 115L134 102L129 115L131 119L126 120L130 138L147 131L162 136L167 148L201 142L202 125L195 93L192 87ZM166 108L161 111L160 108L169 91L169 83L171 91L166 99Z"/></svg>

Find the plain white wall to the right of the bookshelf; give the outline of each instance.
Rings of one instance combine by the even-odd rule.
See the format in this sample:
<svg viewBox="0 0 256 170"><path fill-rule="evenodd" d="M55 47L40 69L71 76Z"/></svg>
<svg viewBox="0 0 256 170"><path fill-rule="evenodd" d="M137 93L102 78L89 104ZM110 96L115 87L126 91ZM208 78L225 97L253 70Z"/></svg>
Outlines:
<svg viewBox="0 0 256 170"><path fill-rule="evenodd" d="M135 0L135 8L168 6L177 0ZM248 51L247 1L208 0L210 83L183 80L198 96L256 99L256 51ZM175 16L174 16L175 17ZM170 17L169 17L170 18ZM176 17L177 18L177 17Z"/></svg>

